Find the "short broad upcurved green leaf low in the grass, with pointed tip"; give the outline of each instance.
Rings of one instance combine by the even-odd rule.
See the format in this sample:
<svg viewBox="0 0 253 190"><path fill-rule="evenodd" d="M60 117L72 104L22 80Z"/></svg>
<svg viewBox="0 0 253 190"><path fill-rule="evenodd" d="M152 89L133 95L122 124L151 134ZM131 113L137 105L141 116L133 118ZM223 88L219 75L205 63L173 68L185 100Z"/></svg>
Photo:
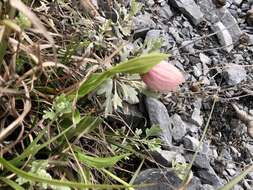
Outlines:
<svg viewBox="0 0 253 190"><path fill-rule="evenodd" d="M82 153L81 151L76 150L76 156L79 161L83 162L84 164L87 164L90 167L94 167L97 169L113 167L118 161L122 160L123 158L129 155L131 154L128 153L128 154L123 154L119 156L99 158L99 157L88 156Z"/></svg>

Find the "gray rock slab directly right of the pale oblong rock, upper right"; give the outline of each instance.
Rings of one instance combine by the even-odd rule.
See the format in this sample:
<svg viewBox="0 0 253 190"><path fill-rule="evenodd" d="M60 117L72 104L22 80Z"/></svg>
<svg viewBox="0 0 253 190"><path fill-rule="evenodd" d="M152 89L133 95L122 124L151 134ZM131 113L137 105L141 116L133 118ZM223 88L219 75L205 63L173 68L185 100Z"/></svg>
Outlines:
<svg viewBox="0 0 253 190"><path fill-rule="evenodd" d="M224 24L224 26L229 31L229 33L233 39L233 42L237 43L242 35L242 31L241 31L240 27L238 26L236 19L229 12L229 10L225 7L221 8L221 9L217 9L217 15L220 18L221 22Z"/></svg>

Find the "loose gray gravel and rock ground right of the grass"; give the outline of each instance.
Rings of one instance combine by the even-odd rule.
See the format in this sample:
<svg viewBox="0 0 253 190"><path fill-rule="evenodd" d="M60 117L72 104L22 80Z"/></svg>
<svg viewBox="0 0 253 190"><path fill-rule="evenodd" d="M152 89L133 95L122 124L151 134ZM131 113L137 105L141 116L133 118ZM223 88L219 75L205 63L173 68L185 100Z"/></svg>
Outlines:
<svg viewBox="0 0 253 190"><path fill-rule="evenodd" d="M163 39L161 51L171 54L170 61L184 71L187 82L160 100L144 98L146 112L133 108L128 120L139 122L148 113L150 123L160 125L164 146L151 155L162 166L171 166L172 160L189 163L209 124L188 189L217 189L253 161L252 127L234 109L246 115L253 109L253 1L142 3L145 11L134 18L134 42ZM165 185L168 181L172 186ZM136 182L162 184L142 189L180 184L170 171L157 168L142 171ZM234 189L253 189L253 173Z"/></svg>

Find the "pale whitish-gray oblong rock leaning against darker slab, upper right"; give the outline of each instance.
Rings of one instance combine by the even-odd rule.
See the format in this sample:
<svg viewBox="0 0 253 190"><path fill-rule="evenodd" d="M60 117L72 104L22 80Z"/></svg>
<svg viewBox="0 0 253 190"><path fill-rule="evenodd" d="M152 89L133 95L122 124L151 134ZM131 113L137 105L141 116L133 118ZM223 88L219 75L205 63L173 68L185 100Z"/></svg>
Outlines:
<svg viewBox="0 0 253 190"><path fill-rule="evenodd" d="M219 42L224 50L227 52L230 52L233 49L233 39L230 35L229 31L226 29L226 27L223 25L222 22L217 22L212 25L213 32L216 33Z"/></svg>

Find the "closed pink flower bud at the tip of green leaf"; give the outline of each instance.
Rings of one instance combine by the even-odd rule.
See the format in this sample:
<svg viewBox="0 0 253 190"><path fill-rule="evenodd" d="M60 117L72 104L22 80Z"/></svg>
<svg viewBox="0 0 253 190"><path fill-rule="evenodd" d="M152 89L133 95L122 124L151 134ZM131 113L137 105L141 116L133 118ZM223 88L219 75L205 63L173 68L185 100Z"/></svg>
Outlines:
<svg viewBox="0 0 253 190"><path fill-rule="evenodd" d="M185 81L179 69L167 61L161 61L141 77L151 90L159 92L174 91Z"/></svg>

